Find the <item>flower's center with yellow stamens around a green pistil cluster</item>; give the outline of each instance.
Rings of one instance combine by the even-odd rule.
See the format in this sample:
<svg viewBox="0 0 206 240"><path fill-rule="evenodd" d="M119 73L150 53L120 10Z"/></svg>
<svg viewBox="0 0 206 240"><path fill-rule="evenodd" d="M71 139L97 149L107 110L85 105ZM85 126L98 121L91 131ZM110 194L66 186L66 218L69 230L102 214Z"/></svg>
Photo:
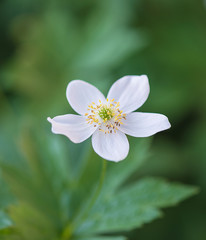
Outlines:
<svg viewBox="0 0 206 240"><path fill-rule="evenodd" d="M92 102L88 106L88 112L85 113L88 124L93 124L99 131L107 133L116 133L121 124L122 119L126 119L126 114L119 109L120 103L114 99L107 99L105 103L99 100L98 104Z"/></svg>

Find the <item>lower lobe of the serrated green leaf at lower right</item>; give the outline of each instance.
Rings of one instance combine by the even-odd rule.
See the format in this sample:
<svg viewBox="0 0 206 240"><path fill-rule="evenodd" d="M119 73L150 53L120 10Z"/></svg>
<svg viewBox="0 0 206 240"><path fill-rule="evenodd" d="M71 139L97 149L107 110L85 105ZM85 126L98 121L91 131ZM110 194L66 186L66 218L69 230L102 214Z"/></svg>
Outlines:
<svg viewBox="0 0 206 240"><path fill-rule="evenodd" d="M153 207L127 205L116 205L111 203L103 208L98 207L91 213L88 220L79 226L77 233L109 233L116 231L127 231L149 223L162 214ZM133 205L132 205L133 204Z"/></svg>

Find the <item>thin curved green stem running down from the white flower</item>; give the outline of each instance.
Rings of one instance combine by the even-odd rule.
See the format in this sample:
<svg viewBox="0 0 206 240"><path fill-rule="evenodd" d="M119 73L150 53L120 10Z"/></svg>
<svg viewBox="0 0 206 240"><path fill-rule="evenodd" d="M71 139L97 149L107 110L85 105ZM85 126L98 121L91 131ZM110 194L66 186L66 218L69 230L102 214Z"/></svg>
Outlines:
<svg viewBox="0 0 206 240"><path fill-rule="evenodd" d="M91 198L91 201L90 203L88 204L88 207L86 208L86 211L83 212L82 216L80 217L79 220L77 220L75 223L73 224L68 224L67 227L65 228L63 234L62 234L62 240L69 240L71 235L73 234L74 232L74 229L76 228L76 226L79 225L79 223L83 222L90 210L92 209L92 207L94 206L95 202L97 201L98 197L99 197L99 194L102 190L102 186L103 186L103 183L104 183L104 178L105 178L105 173L106 173L106 169L107 169L107 161L106 160L103 160L103 164L102 164L102 172L101 172L101 175L100 175L100 179L99 179L99 185L96 189L96 191L94 192L94 195L93 197Z"/></svg>

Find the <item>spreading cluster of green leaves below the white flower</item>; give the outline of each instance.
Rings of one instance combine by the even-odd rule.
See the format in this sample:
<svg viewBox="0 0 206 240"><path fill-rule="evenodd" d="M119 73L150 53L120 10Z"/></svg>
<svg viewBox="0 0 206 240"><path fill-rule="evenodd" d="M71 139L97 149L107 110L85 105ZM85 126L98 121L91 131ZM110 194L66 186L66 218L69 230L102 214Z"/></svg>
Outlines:
<svg viewBox="0 0 206 240"><path fill-rule="evenodd" d="M132 146L126 161L109 163L102 192L90 209L101 170L98 157L93 156L94 153L93 157L91 153L84 154L89 157L84 164L82 162L83 169L77 169L75 176L71 176L70 158L61 156L57 161L55 148L46 149L46 152L52 151L50 158L38 156L45 144L41 144L38 138L32 139L35 135L28 134L22 142L27 157L26 171L1 162L3 178L15 196L12 205L2 205L2 210L7 209L14 224L2 212L1 228L16 231L16 234L11 232L11 235L4 236L5 239L85 239L86 236L96 239L99 234L114 232L118 236L118 232L140 227L160 217L159 208L175 205L197 192L195 187L170 184L156 178L144 178L125 185L125 180L147 155L148 142L140 141ZM90 148L86 147L85 151ZM81 157L75 159L83 160ZM8 198L9 194L3 194L3 197ZM121 239L115 236L99 236L97 239Z"/></svg>

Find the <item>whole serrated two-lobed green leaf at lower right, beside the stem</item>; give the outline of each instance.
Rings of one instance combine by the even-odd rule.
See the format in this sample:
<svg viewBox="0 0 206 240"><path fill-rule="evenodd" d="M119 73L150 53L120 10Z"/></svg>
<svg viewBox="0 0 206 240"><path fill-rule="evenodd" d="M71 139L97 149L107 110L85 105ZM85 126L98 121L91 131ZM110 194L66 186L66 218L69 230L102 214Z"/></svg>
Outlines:
<svg viewBox="0 0 206 240"><path fill-rule="evenodd" d="M162 207L173 206L196 194L196 187L145 178L113 195L101 196L79 232L127 231L160 217Z"/></svg>

